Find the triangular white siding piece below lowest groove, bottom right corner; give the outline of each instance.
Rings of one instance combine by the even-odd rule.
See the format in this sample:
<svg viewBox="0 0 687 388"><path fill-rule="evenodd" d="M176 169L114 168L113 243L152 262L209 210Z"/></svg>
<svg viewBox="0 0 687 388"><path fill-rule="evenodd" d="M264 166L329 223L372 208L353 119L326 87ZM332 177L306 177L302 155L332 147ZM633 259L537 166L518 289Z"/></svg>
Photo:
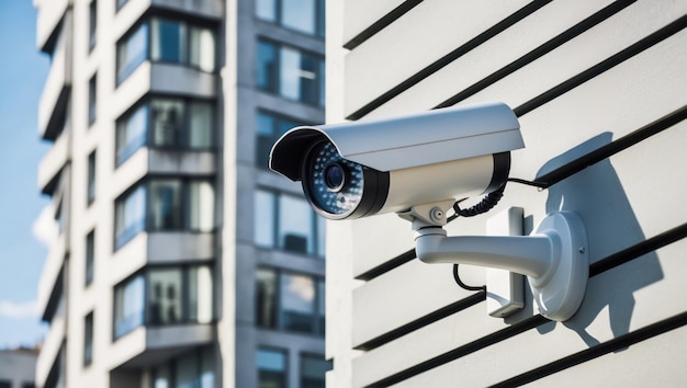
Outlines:
<svg viewBox="0 0 687 388"><path fill-rule="evenodd" d="M687 327L682 327L550 375L528 387L579 387L577 381L584 381L586 387L637 387L641 381L652 387L683 387L687 384L685 349Z"/></svg>

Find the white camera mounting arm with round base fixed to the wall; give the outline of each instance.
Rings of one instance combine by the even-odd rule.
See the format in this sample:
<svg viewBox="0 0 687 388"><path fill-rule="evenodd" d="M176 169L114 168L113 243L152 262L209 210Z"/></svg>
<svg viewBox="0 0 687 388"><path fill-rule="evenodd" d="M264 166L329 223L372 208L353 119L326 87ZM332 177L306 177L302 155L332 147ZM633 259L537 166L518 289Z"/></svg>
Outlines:
<svg viewBox="0 0 687 388"><path fill-rule="evenodd" d="M447 237L442 228L446 203L414 206L398 214L413 221L418 259L425 263L470 264L519 273L528 277L542 316L565 321L577 311L589 275L587 233L577 214L552 213L530 236Z"/></svg>

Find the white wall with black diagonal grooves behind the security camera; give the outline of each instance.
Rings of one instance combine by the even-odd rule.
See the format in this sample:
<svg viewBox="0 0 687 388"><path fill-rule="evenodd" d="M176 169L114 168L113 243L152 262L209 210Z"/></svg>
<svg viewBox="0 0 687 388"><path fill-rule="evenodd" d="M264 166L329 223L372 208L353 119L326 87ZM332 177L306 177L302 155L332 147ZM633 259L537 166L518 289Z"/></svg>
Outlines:
<svg viewBox="0 0 687 388"><path fill-rule="evenodd" d="M503 101L526 148L493 214L587 227L577 313L486 313L395 215L329 221L328 387L684 386L687 7L680 1L365 1L327 9L327 122ZM419 129L418 129L419 130ZM410 156L409 156L410 157ZM450 236L485 235L492 214ZM485 284L485 271L461 266Z"/></svg>

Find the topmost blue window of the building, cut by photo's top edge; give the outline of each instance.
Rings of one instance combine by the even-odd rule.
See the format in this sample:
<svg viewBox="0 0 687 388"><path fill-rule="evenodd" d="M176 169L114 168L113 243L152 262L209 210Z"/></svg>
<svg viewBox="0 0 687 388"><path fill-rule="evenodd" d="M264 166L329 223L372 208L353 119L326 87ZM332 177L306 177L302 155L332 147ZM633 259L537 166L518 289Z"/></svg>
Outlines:
<svg viewBox="0 0 687 388"><path fill-rule="evenodd" d="M256 16L304 34L325 36L324 0L257 0Z"/></svg>

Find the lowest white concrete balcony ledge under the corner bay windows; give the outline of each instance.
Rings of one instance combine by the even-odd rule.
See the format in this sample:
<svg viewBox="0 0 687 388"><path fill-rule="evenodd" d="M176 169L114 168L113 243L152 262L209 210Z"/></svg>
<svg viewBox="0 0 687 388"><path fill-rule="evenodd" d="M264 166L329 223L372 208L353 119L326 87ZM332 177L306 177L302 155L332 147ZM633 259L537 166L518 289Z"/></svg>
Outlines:
<svg viewBox="0 0 687 388"><path fill-rule="evenodd" d="M177 354L209 344L215 338L212 323L139 327L112 344L109 369L158 365Z"/></svg>

